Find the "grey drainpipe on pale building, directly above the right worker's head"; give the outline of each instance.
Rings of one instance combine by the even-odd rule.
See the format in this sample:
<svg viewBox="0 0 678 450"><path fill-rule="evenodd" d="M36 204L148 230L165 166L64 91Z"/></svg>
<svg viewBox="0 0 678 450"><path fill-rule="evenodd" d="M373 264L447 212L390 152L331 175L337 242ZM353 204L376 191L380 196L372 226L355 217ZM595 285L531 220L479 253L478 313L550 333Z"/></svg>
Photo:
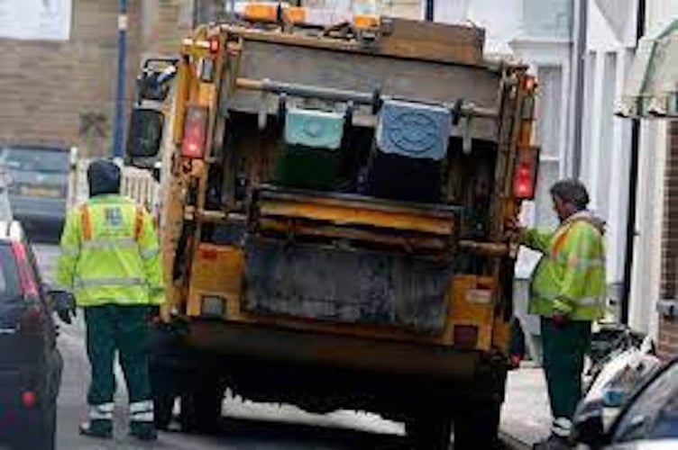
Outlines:
<svg viewBox="0 0 678 450"><path fill-rule="evenodd" d="M572 152L572 170L573 177L579 178L582 172L582 128L584 112L584 82L586 79L586 40L589 28L589 1L579 0L575 3L574 13L576 14L574 26L574 45L573 45L573 152Z"/></svg>

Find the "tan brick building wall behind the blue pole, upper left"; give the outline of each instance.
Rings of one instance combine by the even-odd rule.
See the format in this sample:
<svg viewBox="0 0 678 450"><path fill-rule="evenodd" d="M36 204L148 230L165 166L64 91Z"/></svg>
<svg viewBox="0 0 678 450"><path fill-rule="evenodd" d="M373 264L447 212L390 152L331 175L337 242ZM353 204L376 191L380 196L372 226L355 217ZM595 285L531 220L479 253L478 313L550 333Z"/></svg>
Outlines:
<svg viewBox="0 0 678 450"><path fill-rule="evenodd" d="M0 40L0 145L112 148L117 74L117 2L72 0L70 39ZM176 53L192 27L192 0L128 0L125 113L144 54Z"/></svg>

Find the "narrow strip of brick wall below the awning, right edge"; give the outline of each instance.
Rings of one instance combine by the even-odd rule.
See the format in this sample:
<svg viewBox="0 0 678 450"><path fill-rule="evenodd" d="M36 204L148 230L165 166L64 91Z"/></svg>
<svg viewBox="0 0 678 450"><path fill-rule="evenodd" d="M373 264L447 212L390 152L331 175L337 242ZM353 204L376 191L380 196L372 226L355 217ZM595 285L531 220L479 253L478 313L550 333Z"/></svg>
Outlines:
<svg viewBox="0 0 678 450"><path fill-rule="evenodd" d="M663 299L678 299L678 122L669 123L662 237ZM678 355L678 319L660 318L659 348L664 356Z"/></svg>

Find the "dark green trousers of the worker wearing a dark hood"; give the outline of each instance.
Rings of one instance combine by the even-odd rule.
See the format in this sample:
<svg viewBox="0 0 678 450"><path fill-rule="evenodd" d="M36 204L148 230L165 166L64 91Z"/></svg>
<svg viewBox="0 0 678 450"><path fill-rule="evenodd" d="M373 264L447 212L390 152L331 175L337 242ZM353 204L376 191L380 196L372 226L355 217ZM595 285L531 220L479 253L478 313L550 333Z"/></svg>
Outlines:
<svg viewBox="0 0 678 450"><path fill-rule="evenodd" d="M92 380L89 405L113 401L115 353L120 357L130 403L151 400L149 376L149 312L145 305L85 308L87 356Z"/></svg>

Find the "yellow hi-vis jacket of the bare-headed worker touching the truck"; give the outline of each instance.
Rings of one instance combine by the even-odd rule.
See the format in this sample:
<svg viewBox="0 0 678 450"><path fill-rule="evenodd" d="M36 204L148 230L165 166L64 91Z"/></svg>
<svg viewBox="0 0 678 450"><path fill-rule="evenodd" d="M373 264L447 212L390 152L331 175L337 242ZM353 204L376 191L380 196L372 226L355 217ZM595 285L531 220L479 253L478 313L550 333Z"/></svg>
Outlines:
<svg viewBox="0 0 678 450"><path fill-rule="evenodd" d="M527 229L521 243L543 254L532 275L530 312L572 320L598 320L605 310L605 247L588 212L554 232Z"/></svg>

